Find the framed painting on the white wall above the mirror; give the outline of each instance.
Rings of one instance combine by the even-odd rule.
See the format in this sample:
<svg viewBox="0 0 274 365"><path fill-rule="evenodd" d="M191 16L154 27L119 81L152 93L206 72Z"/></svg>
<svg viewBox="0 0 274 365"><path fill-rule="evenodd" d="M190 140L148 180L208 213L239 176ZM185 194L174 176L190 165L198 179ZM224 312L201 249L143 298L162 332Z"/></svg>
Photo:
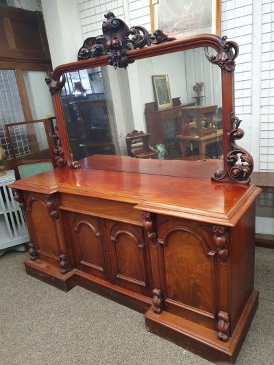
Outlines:
<svg viewBox="0 0 274 365"><path fill-rule="evenodd" d="M221 34L221 0L150 0L151 33L155 29L175 38Z"/></svg>

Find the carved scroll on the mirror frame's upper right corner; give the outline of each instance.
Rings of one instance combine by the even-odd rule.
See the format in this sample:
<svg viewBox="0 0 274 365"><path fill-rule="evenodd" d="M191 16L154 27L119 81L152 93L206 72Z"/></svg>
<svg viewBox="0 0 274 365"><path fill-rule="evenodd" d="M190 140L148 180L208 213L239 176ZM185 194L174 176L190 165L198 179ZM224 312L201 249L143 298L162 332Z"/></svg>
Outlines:
<svg viewBox="0 0 274 365"><path fill-rule="evenodd" d="M222 46L217 55L210 55L208 53L208 47L205 47L206 58L212 64L217 64L225 71L232 72L235 70L235 58L238 56L239 47L236 42L227 40L227 36L222 38Z"/></svg>

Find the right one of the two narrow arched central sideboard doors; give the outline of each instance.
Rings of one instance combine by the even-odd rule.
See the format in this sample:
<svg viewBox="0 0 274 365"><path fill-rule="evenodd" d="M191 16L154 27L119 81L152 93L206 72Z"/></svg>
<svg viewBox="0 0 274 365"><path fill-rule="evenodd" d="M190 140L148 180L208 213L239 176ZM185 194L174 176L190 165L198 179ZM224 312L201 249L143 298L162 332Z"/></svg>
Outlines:
<svg viewBox="0 0 274 365"><path fill-rule="evenodd" d="M114 284L151 296L149 246L142 227L105 221Z"/></svg>

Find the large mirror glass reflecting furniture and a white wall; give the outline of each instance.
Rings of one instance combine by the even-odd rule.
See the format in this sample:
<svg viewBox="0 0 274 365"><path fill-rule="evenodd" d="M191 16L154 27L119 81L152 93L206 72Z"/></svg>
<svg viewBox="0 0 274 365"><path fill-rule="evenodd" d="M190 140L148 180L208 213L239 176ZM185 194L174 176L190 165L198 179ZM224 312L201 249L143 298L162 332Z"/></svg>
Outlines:
<svg viewBox="0 0 274 365"><path fill-rule="evenodd" d="M203 47L65 77L61 99L74 160L223 158L221 69Z"/></svg>

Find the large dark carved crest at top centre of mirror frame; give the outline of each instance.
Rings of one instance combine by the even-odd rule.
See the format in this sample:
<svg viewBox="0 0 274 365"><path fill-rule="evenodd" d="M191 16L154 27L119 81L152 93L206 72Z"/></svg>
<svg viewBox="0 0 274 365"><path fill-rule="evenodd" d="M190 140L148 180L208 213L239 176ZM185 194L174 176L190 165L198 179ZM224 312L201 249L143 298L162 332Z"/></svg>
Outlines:
<svg viewBox="0 0 274 365"><path fill-rule="evenodd" d="M111 66L126 68L129 63L134 62L129 61L127 51L170 40L167 34L159 29L153 36L144 27L137 26L129 29L124 21L116 18L113 12L105 14L105 18L107 20L103 21L103 35L87 38L79 49L78 60L108 55Z"/></svg>

